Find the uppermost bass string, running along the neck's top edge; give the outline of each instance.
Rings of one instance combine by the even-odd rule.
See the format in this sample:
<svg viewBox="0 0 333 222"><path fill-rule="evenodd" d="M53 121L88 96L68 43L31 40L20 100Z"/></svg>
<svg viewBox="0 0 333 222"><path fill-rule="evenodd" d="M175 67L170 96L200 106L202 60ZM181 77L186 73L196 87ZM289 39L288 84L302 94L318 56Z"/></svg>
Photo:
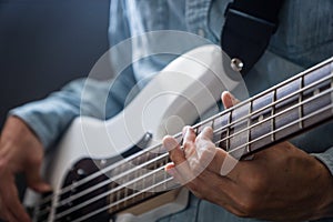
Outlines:
<svg viewBox="0 0 333 222"><path fill-rule="evenodd" d="M331 58L331 60L332 60L332 58ZM280 88L281 85L285 85L285 84L292 82L293 80L295 80L297 77L309 74L309 73L312 72L313 70L317 70L317 69L322 68L323 65L325 65L326 62L327 62L327 61L324 61L324 62L317 64L316 67L313 67L312 69L309 69L309 70L306 70L306 71L304 71L304 72L301 72L300 74L295 75L294 78L291 78L291 79L289 79L287 81L282 82L282 83L280 83L280 84L278 84L278 85L275 85L275 87L273 87L273 88L271 88L271 89L269 89L269 90L266 90L266 91L264 91L264 92L258 94L256 97L253 97L253 99L258 99L258 98L260 98L260 97L262 97L262 95L264 95L264 94L271 92L272 90ZM326 79L326 78L324 78L324 79ZM316 81L316 82L317 82L317 81ZM314 83L316 83L316 82L314 82ZM311 83L311 84L306 85L305 88L310 88L310 85L312 85L312 84L314 84L314 83ZM285 98L284 98L284 99L285 99ZM245 102L246 102L246 101L241 102L241 103L234 105L232 109L230 109L230 111L236 109L238 107L241 107L241 105L244 104ZM221 113L219 113L219 114L212 117L211 119L216 118L216 117L219 117L219 115L223 115L223 114L226 113L226 112L228 112L228 110L225 110L224 112L221 112ZM209 120L210 120L210 119L208 119L206 121L209 121ZM206 122L206 121L203 121L203 123ZM198 124L194 125L194 127L198 127L198 125L200 125L200 123L198 123ZM174 138L179 138L179 137L181 137L181 133L178 133L178 134L174 135ZM158 144L158 145L160 145L160 144ZM97 173L93 173L93 174L91 174L90 176L87 176L85 179L83 179L83 180L81 180L81 181L78 181L75 185L78 186L78 185L80 185L80 184L83 184L85 181L92 180L92 179L94 179L97 175L100 175L100 174L102 174L102 173L108 172L108 170L110 170L110 169L113 170L113 168L115 168L117 165L122 164L124 161L132 160L132 159L139 157L140 154L142 154L142 152L148 152L148 151L150 151L150 150L153 150L153 149L154 149L155 147L158 147L158 145L148 148L147 150L140 151L140 152L138 152L137 154L131 155L129 159L124 159L124 160L119 161L119 162L117 162L117 163L114 163L114 164L111 164L111 165L109 165L108 168L102 169L101 171L98 171ZM53 194L51 194L51 195L49 195L49 196L42 199L41 202L47 202L47 201L49 201L50 199L53 199L53 198L56 198L57 195L59 195L59 194L61 194L61 193L64 193L64 192L67 192L67 191L70 191L71 189L72 189L72 185L68 185L68 186L61 189L60 192L53 193Z"/></svg>

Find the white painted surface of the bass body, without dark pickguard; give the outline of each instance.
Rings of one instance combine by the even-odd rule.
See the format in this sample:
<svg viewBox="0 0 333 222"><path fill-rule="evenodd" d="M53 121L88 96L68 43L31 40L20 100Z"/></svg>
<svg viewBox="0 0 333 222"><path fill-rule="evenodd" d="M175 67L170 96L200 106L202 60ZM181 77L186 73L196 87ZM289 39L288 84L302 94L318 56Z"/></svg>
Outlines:
<svg viewBox="0 0 333 222"><path fill-rule="evenodd" d="M224 73L221 61L219 47L198 48L171 62L117 117L108 121L77 118L47 159L44 176L53 191L57 193L61 189L62 178L83 158L119 155L138 143L147 132L153 137L149 145L161 143L165 134L175 134L185 124L193 124L198 117L215 105L222 91L243 84ZM36 201L36 196L28 193L26 204ZM131 212L120 214L117 221L154 221L184 209L186 201L188 191L183 190L172 203L140 215ZM52 213L48 221L53 221Z"/></svg>

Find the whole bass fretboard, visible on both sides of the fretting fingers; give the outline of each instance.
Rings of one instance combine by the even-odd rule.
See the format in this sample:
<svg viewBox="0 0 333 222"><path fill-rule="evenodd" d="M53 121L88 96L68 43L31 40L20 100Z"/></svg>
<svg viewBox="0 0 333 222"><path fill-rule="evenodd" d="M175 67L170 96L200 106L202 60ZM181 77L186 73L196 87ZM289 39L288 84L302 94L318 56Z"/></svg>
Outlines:
<svg viewBox="0 0 333 222"><path fill-rule="evenodd" d="M193 125L196 133L212 127L213 142L236 159L250 155L282 140L302 133L333 118L333 58L271 88L233 108ZM181 133L174 135L181 141ZM112 173L129 199L114 211L145 201L161 191L178 188L163 170L169 162L162 144L148 148L120 164ZM113 176L114 178L114 176ZM143 192L133 192L141 190ZM117 201L118 193L110 196Z"/></svg>

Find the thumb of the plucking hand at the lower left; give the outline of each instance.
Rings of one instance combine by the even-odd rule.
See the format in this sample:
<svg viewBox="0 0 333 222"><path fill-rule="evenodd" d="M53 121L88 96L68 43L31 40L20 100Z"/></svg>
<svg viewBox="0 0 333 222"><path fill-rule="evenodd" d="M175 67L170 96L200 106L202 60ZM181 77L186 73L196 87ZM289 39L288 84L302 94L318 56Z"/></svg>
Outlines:
<svg viewBox="0 0 333 222"><path fill-rule="evenodd" d="M40 193L50 192L52 188L41 178L39 169L38 165L32 167L26 172L28 186Z"/></svg>

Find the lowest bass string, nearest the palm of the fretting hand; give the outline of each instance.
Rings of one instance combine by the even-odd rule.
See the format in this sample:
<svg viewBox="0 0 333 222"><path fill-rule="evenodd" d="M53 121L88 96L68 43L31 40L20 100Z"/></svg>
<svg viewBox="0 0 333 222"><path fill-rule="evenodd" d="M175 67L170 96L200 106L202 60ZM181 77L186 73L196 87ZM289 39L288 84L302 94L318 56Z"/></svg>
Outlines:
<svg viewBox="0 0 333 222"><path fill-rule="evenodd" d="M315 111L314 114L310 114L310 115L303 117L301 120L293 121L291 124L296 124L296 123L299 123L300 121L305 121L305 120L307 120L309 118L311 118L311 117L313 117L313 115L317 115L317 114L320 114L321 112L324 112L324 111L326 111L326 110L329 110L329 109L332 109L332 108L333 108L333 104L326 105L325 108ZM283 129L278 129L278 130L274 131L274 133L276 133L276 132L279 132L279 131L281 131L281 130L283 130ZM266 133L265 137L268 137L268 135L270 135L270 134L271 134L271 133ZM248 142L245 145L250 145L250 144L253 143L253 142L255 142L255 141ZM138 192L138 193L134 193L134 194L132 194L132 195L129 195L129 196L125 196L125 198L123 198L123 199L121 199L121 200L118 200L117 202L112 202L112 203L110 203L110 204L107 204L105 206L102 206L102 208L100 208L99 210L92 211L92 212L90 212L90 213L88 213L88 214L85 214L85 215L83 215L83 216L81 216L81 218L79 218L79 219L75 219L74 221L75 221L75 222L79 222L79 221L82 221L82 220L87 220L87 219L89 219L89 218L91 218L91 216L93 216L93 215L95 215L95 214L98 214L98 213L101 213L101 212L103 212L103 211L109 210L110 208L113 208L113 206L115 206L115 205L119 205L119 204L121 204L121 203L124 203L124 202L128 201L129 199L133 199L134 196L137 196L137 195L139 195L139 194L143 194L143 193L148 192L149 190L151 190L152 188L157 188L157 186L159 186L159 185L161 185L161 184L164 184L165 182L169 182L169 181L171 181L172 179L173 179L173 178L171 176L171 178L169 178L169 179L167 179L167 180L164 180L164 181L161 181L161 182L159 182L159 183L155 183L155 184L153 184L152 186L149 186L149 188L147 188L147 189L144 189L144 190ZM88 204L87 204L87 205L88 205ZM56 214L56 216L57 216L57 215L58 215L58 214Z"/></svg>

